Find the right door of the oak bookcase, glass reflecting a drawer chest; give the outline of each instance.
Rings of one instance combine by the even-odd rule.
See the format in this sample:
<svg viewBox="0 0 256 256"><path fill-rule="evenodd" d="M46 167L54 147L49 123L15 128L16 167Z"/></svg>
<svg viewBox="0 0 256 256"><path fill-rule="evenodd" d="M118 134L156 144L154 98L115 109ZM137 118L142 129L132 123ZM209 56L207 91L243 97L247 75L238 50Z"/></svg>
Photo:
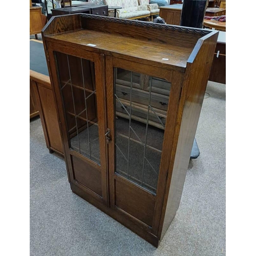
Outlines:
<svg viewBox="0 0 256 256"><path fill-rule="evenodd" d="M126 94L122 96L117 93L120 89L118 82L123 80L120 74L117 75L120 69L125 70L123 74L130 98ZM142 63L106 56L110 207L156 236L172 153L177 100L181 90L180 84L172 83L172 73ZM143 89L143 101L138 103L137 83L133 79L138 79L140 74L149 77L149 89ZM169 90L170 98L176 99L169 98L165 122L152 106L153 84L157 87L156 82L162 83L163 80L167 84L165 89ZM123 110L122 114L119 113L120 109ZM142 112L144 116L141 115ZM151 125L150 116L155 116L161 127ZM166 127L168 133L165 133Z"/></svg>

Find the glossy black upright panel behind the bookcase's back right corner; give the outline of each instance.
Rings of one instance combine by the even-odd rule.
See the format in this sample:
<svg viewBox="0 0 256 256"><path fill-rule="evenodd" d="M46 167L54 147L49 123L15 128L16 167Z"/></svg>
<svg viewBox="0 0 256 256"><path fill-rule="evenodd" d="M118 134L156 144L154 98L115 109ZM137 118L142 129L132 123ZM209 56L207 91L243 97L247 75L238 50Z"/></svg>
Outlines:
<svg viewBox="0 0 256 256"><path fill-rule="evenodd" d="M180 26L203 28L207 0L183 0Z"/></svg>

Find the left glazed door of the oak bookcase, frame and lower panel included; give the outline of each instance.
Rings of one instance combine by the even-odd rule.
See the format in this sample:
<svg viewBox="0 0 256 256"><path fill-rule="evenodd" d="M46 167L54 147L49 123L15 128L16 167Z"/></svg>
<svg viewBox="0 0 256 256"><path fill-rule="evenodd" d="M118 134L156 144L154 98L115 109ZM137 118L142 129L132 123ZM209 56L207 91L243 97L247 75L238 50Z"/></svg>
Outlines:
<svg viewBox="0 0 256 256"><path fill-rule="evenodd" d="M70 182L108 204L103 55L48 49Z"/></svg>

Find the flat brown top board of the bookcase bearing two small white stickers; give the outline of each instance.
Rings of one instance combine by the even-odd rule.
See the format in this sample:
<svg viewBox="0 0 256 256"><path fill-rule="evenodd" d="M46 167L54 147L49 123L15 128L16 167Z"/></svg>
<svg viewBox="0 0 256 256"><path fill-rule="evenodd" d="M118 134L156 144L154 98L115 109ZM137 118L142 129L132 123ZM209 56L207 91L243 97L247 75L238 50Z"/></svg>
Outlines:
<svg viewBox="0 0 256 256"><path fill-rule="evenodd" d="M97 49L101 53L103 50L106 54L108 52L117 53L183 68L186 67L187 59L193 50L190 47L167 45L157 41L86 29L50 35L49 37L76 44L77 47L86 46L88 50L96 51L95 49Z"/></svg>

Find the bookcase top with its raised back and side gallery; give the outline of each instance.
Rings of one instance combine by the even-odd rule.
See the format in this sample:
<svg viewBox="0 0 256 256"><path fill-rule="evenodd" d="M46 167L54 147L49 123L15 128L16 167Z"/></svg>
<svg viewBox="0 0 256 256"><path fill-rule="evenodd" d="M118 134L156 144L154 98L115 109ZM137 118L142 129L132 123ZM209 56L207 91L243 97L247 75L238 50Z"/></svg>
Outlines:
<svg viewBox="0 0 256 256"><path fill-rule="evenodd" d="M52 17L42 30L42 38L185 72L187 62L195 58L202 44L199 40L216 33L80 13Z"/></svg>

